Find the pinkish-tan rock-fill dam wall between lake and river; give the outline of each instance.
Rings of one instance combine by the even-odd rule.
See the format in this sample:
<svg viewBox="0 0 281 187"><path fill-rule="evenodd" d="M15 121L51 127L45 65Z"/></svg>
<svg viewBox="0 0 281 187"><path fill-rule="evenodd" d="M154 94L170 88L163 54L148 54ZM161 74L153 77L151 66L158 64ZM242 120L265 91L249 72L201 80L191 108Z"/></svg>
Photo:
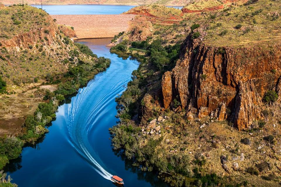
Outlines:
<svg viewBox="0 0 281 187"><path fill-rule="evenodd" d="M136 15L52 15L56 23L74 27L78 39L112 38L128 29Z"/></svg>

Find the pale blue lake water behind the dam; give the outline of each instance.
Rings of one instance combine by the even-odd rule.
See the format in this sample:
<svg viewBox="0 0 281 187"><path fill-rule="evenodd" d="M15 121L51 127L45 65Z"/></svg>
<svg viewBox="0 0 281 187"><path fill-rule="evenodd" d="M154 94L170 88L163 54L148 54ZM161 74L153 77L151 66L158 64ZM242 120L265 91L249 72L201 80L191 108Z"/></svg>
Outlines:
<svg viewBox="0 0 281 187"><path fill-rule="evenodd" d="M32 5L41 8L41 5ZM50 15L60 14L121 14L133 8L131 5L43 5L45 10ZM168 6L172 7L172 6ZM182 6L173 6L181 9Z"/></svg>

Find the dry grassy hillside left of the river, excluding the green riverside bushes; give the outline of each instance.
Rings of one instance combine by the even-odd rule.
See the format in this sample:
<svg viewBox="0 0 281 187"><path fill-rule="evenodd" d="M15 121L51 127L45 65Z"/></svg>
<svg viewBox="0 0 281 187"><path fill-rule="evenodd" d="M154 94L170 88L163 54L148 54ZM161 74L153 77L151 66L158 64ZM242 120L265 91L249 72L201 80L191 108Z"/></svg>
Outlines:
<svg viewBox="0 0 281 187"><path fill-rule="evenodd" d="M4 136L18 134L24 116L33 114L38 103L42 102L44 91L37 91L37 89L56 88L56 86L42 87L40 86L42 83L50 84L60 79L68 67L75 65L79 59L92 62L92 57L78 52L73 42L58 30L53 19L40 9L31 6L24 6L24 8L12 6L1 7L0 12L2 36L0 43L9 41L20 33L27 33L30 29L35 30L50 25L56 32L53 37L51 34L44 33L43 29L43 35L32 45L29 45L30 38L27 37L23 40L25 46L8 48L4 45L0 46L2 57L0 73L7 83L8 91L8 94L0 95L0 136ZM20 24L13 24L13 20L19 20ZM37 36L39 31L36 30L33 34Z"/></svg>

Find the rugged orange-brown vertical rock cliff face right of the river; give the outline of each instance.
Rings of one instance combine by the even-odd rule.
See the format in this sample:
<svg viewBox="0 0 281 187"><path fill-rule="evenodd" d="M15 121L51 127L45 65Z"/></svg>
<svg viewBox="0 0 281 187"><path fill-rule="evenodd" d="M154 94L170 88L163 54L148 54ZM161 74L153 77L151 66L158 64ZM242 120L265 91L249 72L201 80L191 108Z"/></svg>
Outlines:
<svg viewBox="0 0 281 187"><path fill-rule="evenodd" d="M174 99L189 119L215 117L239 129L250 129L263 119L267 91L280 94L281 45L261 47L212 47L187 37L181 59L162 77L163 105Z"/></svg>

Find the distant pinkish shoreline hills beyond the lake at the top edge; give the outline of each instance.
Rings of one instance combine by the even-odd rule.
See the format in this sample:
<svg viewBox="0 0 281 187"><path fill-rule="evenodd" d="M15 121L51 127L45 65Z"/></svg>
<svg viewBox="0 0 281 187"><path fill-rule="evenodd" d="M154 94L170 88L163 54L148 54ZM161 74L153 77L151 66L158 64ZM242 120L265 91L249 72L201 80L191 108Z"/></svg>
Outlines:
<svg viewBox="0 0 281 187"><path fill-rule="evenodd" d="M20 0L3 0L1 1L3 4L19 4L22 3ZM164 4L164 5L177 5L184 6L188 4L190 0L43 0L43 4L116 4L116 5L143 5L143 4ZM41 4L39 1L35 0L26 0L24 3L27 4Z"/></svg>

